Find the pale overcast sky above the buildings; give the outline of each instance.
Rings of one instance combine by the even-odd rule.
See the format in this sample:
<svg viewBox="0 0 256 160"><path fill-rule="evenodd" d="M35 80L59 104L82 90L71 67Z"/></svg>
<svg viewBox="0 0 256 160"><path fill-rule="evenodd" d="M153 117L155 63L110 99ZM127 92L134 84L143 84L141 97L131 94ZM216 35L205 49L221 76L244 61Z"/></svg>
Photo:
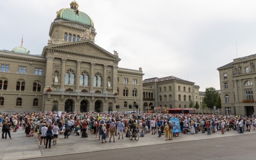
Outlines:
<svg viewBox="0 0 256 160"><path fill-rule="evenodd" d="M8 0L0 10L0 49L23 46L42 54L56 12L71 0ZM175 76L200 91L220 89L218 67L256 53L255 0L76 0L94 22L95 43L119 67L144 79ZM237 42L237 55L236 55Z"/></svg>

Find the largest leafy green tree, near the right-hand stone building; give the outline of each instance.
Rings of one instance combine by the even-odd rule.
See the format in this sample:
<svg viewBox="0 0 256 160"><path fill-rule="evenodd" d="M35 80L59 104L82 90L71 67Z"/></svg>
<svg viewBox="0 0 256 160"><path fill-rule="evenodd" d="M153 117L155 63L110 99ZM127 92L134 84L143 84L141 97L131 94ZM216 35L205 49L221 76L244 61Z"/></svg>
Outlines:
<svg viewBox="0 0 256 160"><path fill-rule="evenodd" d="M206 104L206 107L213 109L218 98L219 92L215 88L210 87L205 89L203 102Z"/></svg>

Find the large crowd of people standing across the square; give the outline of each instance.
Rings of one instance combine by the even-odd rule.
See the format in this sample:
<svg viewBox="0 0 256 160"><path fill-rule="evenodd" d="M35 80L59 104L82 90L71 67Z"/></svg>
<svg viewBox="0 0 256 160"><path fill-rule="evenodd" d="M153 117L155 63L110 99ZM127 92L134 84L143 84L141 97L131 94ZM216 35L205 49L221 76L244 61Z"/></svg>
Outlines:
<svg viewBox="0 0 256 160"><path fill-rule="evenodd" d="M180 133L173 131L171 118L179 119ZM229 132L236 130L237 133L250 132L255 130L254 115L246 116L228 116L219 114L164 114L164 113L141 113L128 114L126 112L97 113L97 112L75 112L61 114L53 112L39 113L14 113L12 115L0 113L0 127L2 127L2 138L6 139L7 134L11 137L11 131L23 129L27 137L35 136L40 140L45 148L51 148L57 145L59 134L67 138L74 133L82 138L88 137L88 134L94 134L95 138L102 143L115 142L115 137L124 139L129 136L129 130L139 131L140 136L146 134L156 134L158 137L164 135L165 140L173 140L177 134L196 134ZM175 125L175 127L178 127ZM92 136L90 135L90 136ZM131 138L132 140L132 138Z"/></svg>

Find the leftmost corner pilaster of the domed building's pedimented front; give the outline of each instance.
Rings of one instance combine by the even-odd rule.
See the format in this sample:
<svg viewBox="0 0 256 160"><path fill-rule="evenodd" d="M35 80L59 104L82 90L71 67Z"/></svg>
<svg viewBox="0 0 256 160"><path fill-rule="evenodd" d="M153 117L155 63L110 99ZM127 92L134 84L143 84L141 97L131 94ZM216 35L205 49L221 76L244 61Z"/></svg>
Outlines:
<svg viewBox="0 0 256 160"><path fill-rule="evenodd" d="M46 59L46 74L45 74L45 89L49 89L49 87L52 87L52 69L53 69L53 60L54 57L47 57Z"/></svg>

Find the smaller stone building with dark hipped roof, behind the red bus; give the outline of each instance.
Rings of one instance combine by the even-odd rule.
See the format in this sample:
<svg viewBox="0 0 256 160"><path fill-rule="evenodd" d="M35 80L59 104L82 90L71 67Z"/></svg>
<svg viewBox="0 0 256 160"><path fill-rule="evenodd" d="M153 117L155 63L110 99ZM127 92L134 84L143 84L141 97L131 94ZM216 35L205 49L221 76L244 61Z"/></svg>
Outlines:
<svg viewBox="0 0 256 160"><path fill-rule="evenodd" d="M174 76L143 80L143 106L163 108L189 108L190 101L202 103L199 86ZM152 108L153 109L153 108Z"/></svg>

